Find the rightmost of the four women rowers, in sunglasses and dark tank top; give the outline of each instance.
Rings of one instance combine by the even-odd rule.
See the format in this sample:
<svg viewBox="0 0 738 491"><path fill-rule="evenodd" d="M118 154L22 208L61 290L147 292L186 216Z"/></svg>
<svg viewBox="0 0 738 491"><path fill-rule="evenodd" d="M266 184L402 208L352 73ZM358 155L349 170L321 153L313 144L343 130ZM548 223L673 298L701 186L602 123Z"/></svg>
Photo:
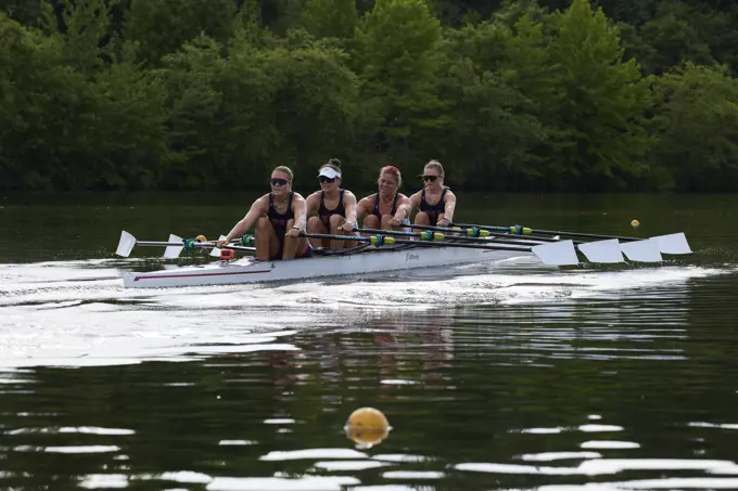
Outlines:
<svg viewBox="0 0 738 491"><path fill-rule="evenodd" d="M456 195L443 185L445 173L437 160L425 164L423 173L424 186L410 196L412 207L418 210L416 225L449 227L454 220Z"/></svg>

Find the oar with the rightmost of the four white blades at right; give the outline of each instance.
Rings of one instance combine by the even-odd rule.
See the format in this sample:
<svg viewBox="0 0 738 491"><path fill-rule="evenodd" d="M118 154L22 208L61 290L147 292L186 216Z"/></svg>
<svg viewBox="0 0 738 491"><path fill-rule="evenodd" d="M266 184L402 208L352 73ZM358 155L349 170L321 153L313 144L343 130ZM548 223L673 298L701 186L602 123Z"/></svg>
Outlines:
<svg viewBox="0 0 738 491"><path fill-rule="evenodd" d="M567 231L559 231L559 230L540 230L540 229L530 229L527 227L521 227L521 225L512 225L512 227L491 227L491 225L478 225L473 223L454 223L455 227L461 227L461 228L475 228L480 230L486 230L486 231L495 231L495 232L507 232L513 235L530 235L530 234L543 234L543 235L558 235L561 237L582 237L582 238L602 238L602 240L618 240L622 242L627 242L627 243L640 243L640 242L647 242L647 241L653 241L656 246L658 247L659 253L663 254L691 254L691 248L689 247L689 244L687 243L687 237L684 234L684 232L677 232L673 234L667 234L667 235L657 235L653 237L629 237L629 236L622 236L622 235L603 235L603 234L595 234L595 233L584 233L584 232L567 232ZM625 246L625 244L621 244L621 246ZM632 253L638 253L640 249L638 247L621 247L623 249L623 253L628 255L628 251ZM649 247L649 249L652 249L652 247ZM642 251L648 255L648 249L642 248Z"/></svg>

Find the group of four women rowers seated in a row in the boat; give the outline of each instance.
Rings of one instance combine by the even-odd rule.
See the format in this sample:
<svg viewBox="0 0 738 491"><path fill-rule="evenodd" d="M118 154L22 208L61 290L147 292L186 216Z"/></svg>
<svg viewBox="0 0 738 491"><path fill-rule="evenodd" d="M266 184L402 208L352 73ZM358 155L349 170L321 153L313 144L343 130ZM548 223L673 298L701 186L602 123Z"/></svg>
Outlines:
<svg viewBox="0 0 738 491"><path fill-rule="evenodd" d="M365 229L402 230L409 223L412 208L418 209L416 224L447 227L456 207L456 196L443 185L443 166L431 160L423 170L424 188L411 197L398 192L403 183L399 169L382 167L378 179L379 192L358 203L348 190L341 189L341 161L331 158L318 171L320 191L307 199L292 191L292 170L284 166L271 172L271 192L257 198L217 246L243 235L255 227L256 257L260 260L309 257L313 247L331 249L353 247L352 241L308 240L301 233L357 235L358 220ZM307 217L311 214L309 220Z"/></svg>

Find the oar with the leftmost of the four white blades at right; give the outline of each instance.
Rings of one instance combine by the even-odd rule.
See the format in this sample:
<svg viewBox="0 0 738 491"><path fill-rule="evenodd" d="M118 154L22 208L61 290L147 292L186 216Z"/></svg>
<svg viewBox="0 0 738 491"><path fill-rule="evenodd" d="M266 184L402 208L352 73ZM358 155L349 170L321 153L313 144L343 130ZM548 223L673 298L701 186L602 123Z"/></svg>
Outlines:
<svg viewBox="0 0 738 491"><path fill-rule="evenodd" d="M572 241L560 241L554 244L539 244L530 247L519 246L505 247L501 244L489 245L489 244L463 244L458 242L408 241L384 235L372 235L369 237L356 235L333 235L313 233L301 233L300 235L308 238L329 238L335 241L370 242L374 244L377 247L391 244L410 244L421 247L461 247L469 249L533 253L535 256L538 257L538 259L540 259L545 264L548 266L574 266L580 263L580 259L576 257L576 250L574 249L574 244L572 243Z"/></svg>

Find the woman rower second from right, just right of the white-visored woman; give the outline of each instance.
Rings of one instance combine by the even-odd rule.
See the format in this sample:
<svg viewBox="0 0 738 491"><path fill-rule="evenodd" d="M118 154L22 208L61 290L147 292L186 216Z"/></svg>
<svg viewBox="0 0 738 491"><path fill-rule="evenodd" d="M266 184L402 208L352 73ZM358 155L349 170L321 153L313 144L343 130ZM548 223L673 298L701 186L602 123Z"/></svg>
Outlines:
<svg viewBox="0 0 738 491"><path fill-rule="evenodd" d="M357 206L358 218L364 218L365 229L402 230L408 223L410 198L399 193L403 177L394 166L382 167L379 171L379 193L361 199Z"/></svg>

